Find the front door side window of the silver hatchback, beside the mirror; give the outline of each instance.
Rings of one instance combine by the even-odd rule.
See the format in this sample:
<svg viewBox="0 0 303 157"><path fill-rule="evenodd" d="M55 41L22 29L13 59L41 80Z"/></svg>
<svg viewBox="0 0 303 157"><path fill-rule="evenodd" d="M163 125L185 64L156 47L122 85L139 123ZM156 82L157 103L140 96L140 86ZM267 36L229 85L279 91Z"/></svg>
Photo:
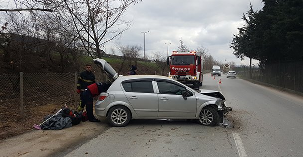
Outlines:
<svg viewBox="0 0 303 157"><path fill-rule="evenodd" d="M169 82L157 82L159 91L161 94L175 94L175 95L182 95L182 91L186 89L184 87L178 86L173 83Z"/></svg>

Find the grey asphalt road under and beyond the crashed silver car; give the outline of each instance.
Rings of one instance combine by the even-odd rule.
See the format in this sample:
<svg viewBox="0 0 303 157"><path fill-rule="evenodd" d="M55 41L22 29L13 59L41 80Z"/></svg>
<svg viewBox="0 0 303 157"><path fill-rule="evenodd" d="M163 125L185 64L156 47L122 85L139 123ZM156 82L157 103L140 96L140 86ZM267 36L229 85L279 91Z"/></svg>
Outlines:
<svg viewBox="0 0 303 157"><path fill-rule="evenodd" d="M221 79L221 84L219 84ZM302 157L303 97L242 79L204 75L233 107L230 125L185 120L131 120L109 128L66 157Z"/></svg>

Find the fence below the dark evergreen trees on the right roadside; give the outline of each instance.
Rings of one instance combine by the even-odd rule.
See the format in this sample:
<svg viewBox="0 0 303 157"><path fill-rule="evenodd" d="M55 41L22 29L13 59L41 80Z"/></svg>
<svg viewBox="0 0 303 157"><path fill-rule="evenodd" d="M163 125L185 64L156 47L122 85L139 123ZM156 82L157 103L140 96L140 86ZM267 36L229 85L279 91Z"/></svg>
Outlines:
<svg viewBox="0 0 303 157"><path fill-rule="evenodd" d="M237 74L250 78L247 65L235 67ZM251 79L303 93L303 61L286 61L266 65L264 68L252 65Z"/></svg>

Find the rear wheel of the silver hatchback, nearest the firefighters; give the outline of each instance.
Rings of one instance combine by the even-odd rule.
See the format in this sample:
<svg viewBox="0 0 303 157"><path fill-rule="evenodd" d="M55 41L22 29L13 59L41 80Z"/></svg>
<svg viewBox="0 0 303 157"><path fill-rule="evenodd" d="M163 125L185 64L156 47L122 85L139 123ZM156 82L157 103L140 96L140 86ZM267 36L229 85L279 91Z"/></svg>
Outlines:
<svg viewBox="0 0 303 157"><path fill-rule="evenodd" d="M125 106L114 106L109 110L107 120L114 127L124 127L131 120L131 112Z"/></svg>

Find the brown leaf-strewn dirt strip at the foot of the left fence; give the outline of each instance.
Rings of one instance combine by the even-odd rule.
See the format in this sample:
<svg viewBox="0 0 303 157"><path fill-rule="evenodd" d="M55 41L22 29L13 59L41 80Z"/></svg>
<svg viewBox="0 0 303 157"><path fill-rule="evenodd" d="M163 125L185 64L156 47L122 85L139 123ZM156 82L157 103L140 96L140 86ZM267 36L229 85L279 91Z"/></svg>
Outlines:
<svg viewBox="0 0 303 157"><path fill-rule="evenodd" d="M3 117L14 117L13 119L0 120L0 140L15 136L33 129L34 124L40 124L46 115L54 114L63 105L48 104L39 107L26 108L24 117L20 116L18 109L10 109L1 106L0 111ZM16 111L12 111L16 110Z"/></svg>

